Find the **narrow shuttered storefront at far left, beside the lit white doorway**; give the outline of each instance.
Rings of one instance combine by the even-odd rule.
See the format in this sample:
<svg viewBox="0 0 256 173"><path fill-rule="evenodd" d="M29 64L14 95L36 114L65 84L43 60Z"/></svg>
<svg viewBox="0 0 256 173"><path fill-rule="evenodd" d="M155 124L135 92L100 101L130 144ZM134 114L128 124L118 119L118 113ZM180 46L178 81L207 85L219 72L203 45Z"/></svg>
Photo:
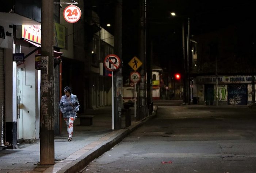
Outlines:
<svg viewBox="0 0 256 173"><path fill-rule="evenodd" d="M12 143L16 117L12 112L13 25L0 21L0 146ZM9 144L8 143L8 144Z"/></svg>

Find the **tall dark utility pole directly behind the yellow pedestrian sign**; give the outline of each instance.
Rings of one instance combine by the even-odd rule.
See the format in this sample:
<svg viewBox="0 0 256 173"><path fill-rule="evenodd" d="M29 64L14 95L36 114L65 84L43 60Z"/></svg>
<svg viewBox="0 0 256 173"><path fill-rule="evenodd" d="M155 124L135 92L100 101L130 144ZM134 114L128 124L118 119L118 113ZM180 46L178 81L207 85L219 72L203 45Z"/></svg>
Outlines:
<svg viewBox="0 0 256 173"><path fill-rule="evenodd" d="M145 106L146 106L146 75L145 75L145 0L140 0L140 60L142 62L141 66L141 81L139 85L139 99L138 99L138 114L137 119L140 120L145 117Z"/></svg>

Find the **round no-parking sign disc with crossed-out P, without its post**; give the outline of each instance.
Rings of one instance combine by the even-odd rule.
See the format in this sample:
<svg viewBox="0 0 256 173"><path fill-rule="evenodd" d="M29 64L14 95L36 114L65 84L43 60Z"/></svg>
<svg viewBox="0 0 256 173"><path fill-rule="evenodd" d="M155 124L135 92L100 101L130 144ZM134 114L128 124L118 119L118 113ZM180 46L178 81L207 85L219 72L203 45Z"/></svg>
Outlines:
<svg viewBox="0 0 256 173"><path fill-rule="evenodd" d="M115 54L110 54L104 59L104 66L108 71L116 71L121 65L120 58Z"/></svg>

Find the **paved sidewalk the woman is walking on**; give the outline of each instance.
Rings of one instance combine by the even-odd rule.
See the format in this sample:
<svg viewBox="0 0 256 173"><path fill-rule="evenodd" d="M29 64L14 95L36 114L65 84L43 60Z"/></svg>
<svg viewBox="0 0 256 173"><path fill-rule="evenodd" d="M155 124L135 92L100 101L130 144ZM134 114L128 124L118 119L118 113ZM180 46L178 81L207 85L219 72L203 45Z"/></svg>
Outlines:
<svg viewBox="0 0 256 173"><path fill-rule="evenodd" d="M134 108L131 108L131 126L125 128L125 116L122 116L122 128L112 130L112 107L107 106L88 110L85 114L94 115L91 126L81 126L80 119L74 122L72 141L68 142L65 122L62 121L62 135L55 136L55 164L40 165L40 142L19 144L19 149L0 150L0 173L74 173L83 169L93 159L99 157L118 144L133 130L156 115L157 106L151 116L136 121Z"/></svg>

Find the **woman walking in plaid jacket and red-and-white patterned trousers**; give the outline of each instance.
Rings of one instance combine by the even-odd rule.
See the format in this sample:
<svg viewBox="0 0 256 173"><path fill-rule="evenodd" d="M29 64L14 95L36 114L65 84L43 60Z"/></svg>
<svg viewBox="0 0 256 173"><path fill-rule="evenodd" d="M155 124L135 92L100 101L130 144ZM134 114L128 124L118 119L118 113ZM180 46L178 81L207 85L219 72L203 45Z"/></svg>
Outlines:
<svg viewBox="0 0 256 173"><path fill-rule="evenodd" d="M76 112L79 111L79 101L77 96L72 94L70 87L64 88L64 96L61 96L60 100L60 110L63 113L63 118L66 122L68 128L68 141L72 141L73 135L73 123L77 118Z"/></svg>

